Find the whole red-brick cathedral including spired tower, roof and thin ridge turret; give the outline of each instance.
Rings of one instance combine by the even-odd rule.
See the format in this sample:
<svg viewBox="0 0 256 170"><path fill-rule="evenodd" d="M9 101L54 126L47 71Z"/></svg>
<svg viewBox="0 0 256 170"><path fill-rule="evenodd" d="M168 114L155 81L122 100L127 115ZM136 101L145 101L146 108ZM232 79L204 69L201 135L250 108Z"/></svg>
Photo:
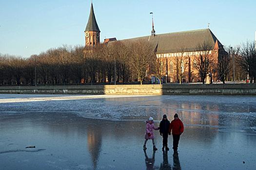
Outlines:
<svg viewBox="0 0 256 170"><path fill-rule="evenodd" d="M91 4L90 16L85 29L85 45L95 46L99 43L99 28L95 18L93 4ZM223 45L217 39L215 34L208 29L156 34L154 29L154 22L152 17L152 31L148 36L136 37L130 39L120 40L122 42L144 40L148 41L154 47L154 51L157 55L158 61L164 65L164 82L173 83L177 82L177 57L185 57L186 61L183 61L182 82L200 82L200 76L195 68L196 58L200 55L212 55L216 60L227 52L224 50ZM116 38L108 38L104 40L104 43L117 41ZM204 49L203 44L207 44L208 48ZM217 80L216 70L210 70L210 74L213 80Z"/></svg>

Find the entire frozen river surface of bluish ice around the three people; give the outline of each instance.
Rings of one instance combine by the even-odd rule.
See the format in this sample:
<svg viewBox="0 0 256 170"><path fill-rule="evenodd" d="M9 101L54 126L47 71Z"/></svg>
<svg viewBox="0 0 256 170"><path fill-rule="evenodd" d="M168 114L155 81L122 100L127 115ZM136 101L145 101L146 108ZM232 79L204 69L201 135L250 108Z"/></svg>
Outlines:
<svg viewBox="0 0 256 170"><path fill-rule="evenodd" d="M178 155L143 142L178 113ZM172 136L169 136L169 146ZM36 148L25 149L26 146ZM0 170L254 170L256 97L0 94Z"/></svg>

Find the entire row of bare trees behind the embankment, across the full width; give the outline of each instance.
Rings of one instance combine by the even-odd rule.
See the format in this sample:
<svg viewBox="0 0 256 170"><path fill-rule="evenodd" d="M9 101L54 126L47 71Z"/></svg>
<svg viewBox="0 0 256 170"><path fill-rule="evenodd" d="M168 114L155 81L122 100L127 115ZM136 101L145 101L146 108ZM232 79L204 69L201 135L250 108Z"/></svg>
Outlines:
<svg viewBox="0 0 256 170"><path fill-rule="evenodd" d="M228 47L217 61L213 53L207 52L211 50L207 45L200 49L204 52L199 53L194 61L189 61L183 52L174 58L180 84L185 75L190 79L191 67L197 69L203 83L207 74L213 71L223 83L234 80L234 77L235 80L248 77L251 83L256 83L254 42L247 42L236 49ZM193 66L188 67L188 64ZM159 79L165 76L165 66L147 41L117 41L96 47L64 45L27 59L0 54L0 85L113 84L115 79L123 84L135 81L142 84L149 75Z"/></svg>

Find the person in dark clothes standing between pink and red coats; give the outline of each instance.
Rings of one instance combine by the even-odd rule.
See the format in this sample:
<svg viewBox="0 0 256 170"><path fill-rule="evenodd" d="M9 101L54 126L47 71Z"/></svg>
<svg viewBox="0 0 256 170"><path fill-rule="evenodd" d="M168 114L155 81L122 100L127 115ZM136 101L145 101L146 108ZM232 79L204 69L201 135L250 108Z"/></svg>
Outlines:
<svg viewBox="0 0 256 170"><path fill-rule="evenodd" d="M163 148L162 148L163 151L164 151L164 147L166 151L169 151L169 148L168 148L169 127L170 127L170 121L167 119L166 115L163 115L163 119L160 121L160 125L159 125L160 135L163 136Z"/></svg>

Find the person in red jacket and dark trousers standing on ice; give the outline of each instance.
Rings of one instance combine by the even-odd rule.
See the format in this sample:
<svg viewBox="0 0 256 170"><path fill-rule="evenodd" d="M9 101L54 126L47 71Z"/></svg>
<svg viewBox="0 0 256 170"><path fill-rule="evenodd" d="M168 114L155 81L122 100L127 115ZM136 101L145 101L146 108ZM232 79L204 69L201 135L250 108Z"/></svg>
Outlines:
<svg viewBox="0 0 256 170"><path fill-rule="evenodd" d="M174 119L171 121L170 128L169 128L169 135L173 135L173 150L177 152L178 149L178 141L180 135L184 132L184 126L180 119L178 119L178 114L174 115Z"/></svg>

